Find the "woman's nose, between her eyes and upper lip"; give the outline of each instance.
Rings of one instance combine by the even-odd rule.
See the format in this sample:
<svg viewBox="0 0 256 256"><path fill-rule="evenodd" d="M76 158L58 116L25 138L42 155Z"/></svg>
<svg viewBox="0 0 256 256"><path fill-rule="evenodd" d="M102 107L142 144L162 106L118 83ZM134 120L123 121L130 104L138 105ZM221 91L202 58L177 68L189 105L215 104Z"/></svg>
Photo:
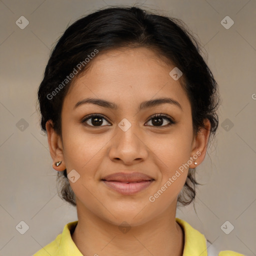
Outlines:
<svg viewBox="0 0 256 256"><path fill-rule="evenodd" d="M144 161L147 158L148 147L135 124L126 131L116 126L116 135L111 139L108 156L112 161L122 161L126 165Z"/></svg>

